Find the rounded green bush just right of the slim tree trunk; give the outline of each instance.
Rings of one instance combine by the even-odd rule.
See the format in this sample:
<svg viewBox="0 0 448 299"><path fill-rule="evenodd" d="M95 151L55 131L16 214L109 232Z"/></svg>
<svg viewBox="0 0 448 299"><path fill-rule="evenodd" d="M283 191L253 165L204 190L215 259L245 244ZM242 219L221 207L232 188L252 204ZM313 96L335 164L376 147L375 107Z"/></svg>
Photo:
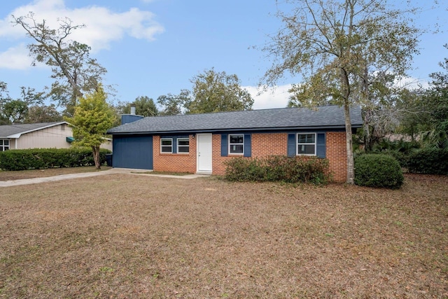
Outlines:
<svg viewBox="0 0 448 299"><path fill-rule="evenodd" d="M400 163L391 155L365 154L355 158L355 184L398 189L405 180Z"/></svg>

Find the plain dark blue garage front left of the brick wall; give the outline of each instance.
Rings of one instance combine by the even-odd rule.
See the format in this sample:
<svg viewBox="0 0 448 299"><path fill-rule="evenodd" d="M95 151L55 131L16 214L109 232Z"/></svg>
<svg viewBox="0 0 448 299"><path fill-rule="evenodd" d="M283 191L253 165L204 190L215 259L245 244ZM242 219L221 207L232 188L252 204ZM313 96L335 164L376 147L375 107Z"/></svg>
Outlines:
<svg viewBox="0 0 448 299"><path fill-rule="evenodd" d="M113 167L153 169L153 137L113 135Z"/></svg>

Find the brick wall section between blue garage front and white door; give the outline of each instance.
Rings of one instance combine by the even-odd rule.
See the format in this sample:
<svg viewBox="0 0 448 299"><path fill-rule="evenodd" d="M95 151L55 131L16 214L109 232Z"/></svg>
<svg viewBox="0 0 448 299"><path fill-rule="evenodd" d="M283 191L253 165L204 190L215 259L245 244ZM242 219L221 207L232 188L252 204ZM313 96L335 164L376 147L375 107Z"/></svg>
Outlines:
<svg viewBox="0 0 448 299"><path fill-rule="evenodd" d="M190 153L160 153L160 136L153 137L153 169L156 172L196 172L196 139L189 136ZM176 144L173 144L176 146Z"/></svg>

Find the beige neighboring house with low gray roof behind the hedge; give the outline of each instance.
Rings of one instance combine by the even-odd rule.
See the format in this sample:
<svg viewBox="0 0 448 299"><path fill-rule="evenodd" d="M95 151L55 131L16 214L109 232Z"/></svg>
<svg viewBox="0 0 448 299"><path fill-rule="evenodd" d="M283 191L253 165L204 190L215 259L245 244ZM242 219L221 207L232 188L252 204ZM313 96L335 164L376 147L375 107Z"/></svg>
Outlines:
<svg viewBox="0 0 448 299"><path fill-rule="evenodd" d="M25 148L69 148L73 142L69 123L0 125L0 151ZM102 148L112 149L106 139Z"/></svg>

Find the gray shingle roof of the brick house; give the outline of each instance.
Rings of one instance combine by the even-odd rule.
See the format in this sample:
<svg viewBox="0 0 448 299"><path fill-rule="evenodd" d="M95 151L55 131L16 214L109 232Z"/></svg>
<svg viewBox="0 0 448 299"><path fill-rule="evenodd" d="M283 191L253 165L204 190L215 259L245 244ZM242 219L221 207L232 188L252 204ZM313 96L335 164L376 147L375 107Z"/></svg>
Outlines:
<svg viewBox="0 0 448 299"><path fill-rule="evenodd" d="M361 127L359 106L350 111L353 128ZM345 129L344 108L282 108L218 113L151 116L113 127L108 134L164 134L181 132L272 131Z"/></svg>

